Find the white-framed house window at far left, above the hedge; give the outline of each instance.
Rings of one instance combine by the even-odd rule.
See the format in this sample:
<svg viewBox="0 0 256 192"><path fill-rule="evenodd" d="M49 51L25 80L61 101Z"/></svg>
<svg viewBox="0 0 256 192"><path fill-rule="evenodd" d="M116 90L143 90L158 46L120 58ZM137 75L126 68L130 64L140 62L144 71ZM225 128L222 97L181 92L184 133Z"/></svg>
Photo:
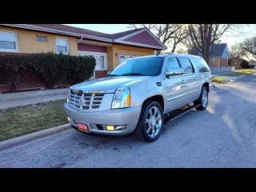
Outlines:
<svg viewBox="0 0 256 192"><path fill-rule="evenodd" d="M16 33L0 31L0 51L18 51L18 38Z"/></svg>

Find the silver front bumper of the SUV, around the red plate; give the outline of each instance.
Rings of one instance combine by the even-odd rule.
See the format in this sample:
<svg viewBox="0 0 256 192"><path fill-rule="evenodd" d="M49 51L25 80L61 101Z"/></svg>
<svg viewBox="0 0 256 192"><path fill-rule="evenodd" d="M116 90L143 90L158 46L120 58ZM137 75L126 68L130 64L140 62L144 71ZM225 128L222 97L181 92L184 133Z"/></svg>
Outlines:
<svg viewBox="0 0 256 192"><path fill-rule="evenodd" d="M76 122L84 122L89 126L89 133L123 135L132 133L138 123L141 113L140 106L116 110L102 110L97 112L81 112L64 104L67 117L71 126L77 127ZM126 126L125 130L100 130L98 125Z"/></svg>

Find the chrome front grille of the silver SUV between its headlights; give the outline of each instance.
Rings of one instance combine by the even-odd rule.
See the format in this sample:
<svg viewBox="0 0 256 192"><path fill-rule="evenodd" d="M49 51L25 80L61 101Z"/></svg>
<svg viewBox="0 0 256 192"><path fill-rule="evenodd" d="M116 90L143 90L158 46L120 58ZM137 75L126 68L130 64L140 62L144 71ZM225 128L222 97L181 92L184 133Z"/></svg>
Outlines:
<svg viewBox="0 0 256 192"><path fill-rule="evenodd" d="M101 106L104 94L82 93L82 90L70 90L70 106L82 110L98 109Z"/></svg>

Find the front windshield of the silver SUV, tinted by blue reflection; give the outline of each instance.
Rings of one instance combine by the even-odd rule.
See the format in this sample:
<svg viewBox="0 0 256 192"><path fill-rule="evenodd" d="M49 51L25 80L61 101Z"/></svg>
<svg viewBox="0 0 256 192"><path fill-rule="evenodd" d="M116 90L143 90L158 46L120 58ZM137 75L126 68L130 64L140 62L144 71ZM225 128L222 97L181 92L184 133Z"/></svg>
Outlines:
<svg viewBox="0 0 256 192"><path fill-rule="evenodd" d="M132 58L122 62L109 76L156 76L162 70L162 57Z"/></svg>

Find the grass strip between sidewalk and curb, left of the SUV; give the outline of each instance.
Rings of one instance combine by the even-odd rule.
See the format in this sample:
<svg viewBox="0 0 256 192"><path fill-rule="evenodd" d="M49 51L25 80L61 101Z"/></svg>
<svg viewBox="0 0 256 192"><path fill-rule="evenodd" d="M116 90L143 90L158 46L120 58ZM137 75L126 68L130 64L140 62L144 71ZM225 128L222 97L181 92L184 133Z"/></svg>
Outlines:
<svg viewBox="0 0 256 192"><path fill-rule="evenodd" d="M67 123L65 100L0 110L0 141Z"/></svg>

